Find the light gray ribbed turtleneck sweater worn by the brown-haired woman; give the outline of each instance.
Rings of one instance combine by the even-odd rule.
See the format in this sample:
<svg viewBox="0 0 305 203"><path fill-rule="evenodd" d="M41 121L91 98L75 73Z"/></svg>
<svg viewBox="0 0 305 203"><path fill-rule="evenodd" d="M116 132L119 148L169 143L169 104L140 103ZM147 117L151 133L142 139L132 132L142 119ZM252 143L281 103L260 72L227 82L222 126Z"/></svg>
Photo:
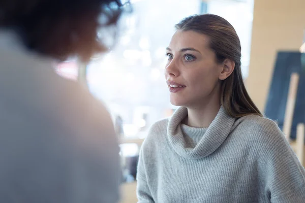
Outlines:
<svg viewBox="0 0 305 203"><path fill-rule="evenodd" d="M207 128L181 121L186 108L151 126L138 164L140 203L305 202L305 170L275 122L231 118Z"/></svg>

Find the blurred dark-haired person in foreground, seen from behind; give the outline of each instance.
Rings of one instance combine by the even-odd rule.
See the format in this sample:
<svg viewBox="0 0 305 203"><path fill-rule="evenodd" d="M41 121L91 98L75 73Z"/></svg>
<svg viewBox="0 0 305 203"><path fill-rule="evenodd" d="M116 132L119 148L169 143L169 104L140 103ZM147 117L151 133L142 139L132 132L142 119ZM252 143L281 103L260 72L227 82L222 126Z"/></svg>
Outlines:
<svg viewBox="0 0 305 203"><path fill-rule="evenodd" d="M118 201L111 118L53 65L106 51L97 30L116 27L120 6L111 0L0 2L0 202Z"/></svg>

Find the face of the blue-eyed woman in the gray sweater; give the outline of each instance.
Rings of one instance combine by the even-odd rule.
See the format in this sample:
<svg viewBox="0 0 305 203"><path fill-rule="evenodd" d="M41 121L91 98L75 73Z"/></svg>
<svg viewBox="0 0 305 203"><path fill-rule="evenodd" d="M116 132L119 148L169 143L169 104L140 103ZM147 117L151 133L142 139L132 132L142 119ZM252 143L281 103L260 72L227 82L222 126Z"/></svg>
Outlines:
<svg viewBox="0 0 305 203"><path fill-rule="evenodd" d="M176 31L167 48L165 78L170 102L196 108L220 94L223 64L216 62L209 37L195 31Z"/></svg>

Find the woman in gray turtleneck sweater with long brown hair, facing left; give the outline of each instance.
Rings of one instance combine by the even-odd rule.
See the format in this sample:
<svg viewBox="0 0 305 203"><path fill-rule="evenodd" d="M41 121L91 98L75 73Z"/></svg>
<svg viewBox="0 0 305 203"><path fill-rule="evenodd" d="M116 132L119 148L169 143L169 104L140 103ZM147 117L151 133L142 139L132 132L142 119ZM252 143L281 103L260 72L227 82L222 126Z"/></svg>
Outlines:
<svg viewBox="0 0 305 203"><path fill-rule="evenodd" d="M139 202L304 202L304 168L249 97L232 25L206 14L175 27L165 78L180 107L143 143Z"/></svg>

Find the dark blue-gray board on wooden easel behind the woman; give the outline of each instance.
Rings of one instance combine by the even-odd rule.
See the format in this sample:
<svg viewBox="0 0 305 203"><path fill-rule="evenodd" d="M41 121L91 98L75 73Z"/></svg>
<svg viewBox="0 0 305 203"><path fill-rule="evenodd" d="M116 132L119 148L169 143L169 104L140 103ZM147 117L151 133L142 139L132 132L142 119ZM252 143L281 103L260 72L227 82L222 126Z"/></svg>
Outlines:
<svg viewBox="0 0 305 203"><path fill-rule="evenodd" d="M272 120L278 120L279 127L283 129L290 75L292 73L299 74L290 136L294 140L297 124L300 122L305 123L305 71L301 65L301 53L284 51L278 53L267 96L265 115Z"/></svg>

